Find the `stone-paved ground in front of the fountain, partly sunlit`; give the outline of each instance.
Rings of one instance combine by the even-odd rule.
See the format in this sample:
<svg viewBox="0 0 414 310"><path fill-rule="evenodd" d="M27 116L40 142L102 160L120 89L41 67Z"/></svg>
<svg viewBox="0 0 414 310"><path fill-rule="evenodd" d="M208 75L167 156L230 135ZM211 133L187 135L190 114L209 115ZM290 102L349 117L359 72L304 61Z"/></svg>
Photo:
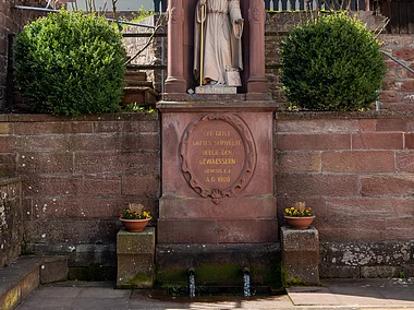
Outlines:
<svg viewBox="0 0 414 310"><path fill-rule="evenodd" d="M112 283L65 282L37 288L17 310L126 309L411 309L414 278L324 279L267 297L173 298L151 290L113 289Z"/></svg>

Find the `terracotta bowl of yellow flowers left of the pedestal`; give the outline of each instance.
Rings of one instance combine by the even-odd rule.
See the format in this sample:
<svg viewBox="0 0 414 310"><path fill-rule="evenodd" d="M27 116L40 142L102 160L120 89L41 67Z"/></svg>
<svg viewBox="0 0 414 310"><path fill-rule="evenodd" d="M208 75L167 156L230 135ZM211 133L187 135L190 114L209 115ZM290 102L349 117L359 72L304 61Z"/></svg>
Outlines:
<svg viewBox="0 0 414 310"><path fill-rule="evenodd" d="M148 222L153 219L149 211L144 210L143 204L129 203L127 207L120 214L120 220L127 231L143 231Z"/></svg>

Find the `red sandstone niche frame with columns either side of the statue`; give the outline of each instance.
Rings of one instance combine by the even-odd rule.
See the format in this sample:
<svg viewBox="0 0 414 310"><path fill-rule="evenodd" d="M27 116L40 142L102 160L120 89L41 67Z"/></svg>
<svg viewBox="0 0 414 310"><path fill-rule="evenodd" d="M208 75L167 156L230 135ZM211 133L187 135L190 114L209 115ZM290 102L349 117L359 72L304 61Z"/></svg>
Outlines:
<svg viewBox="0 0 414 310"><path fill-rule="evenodd" d="M169 0L168 7L168 78L166 93L185 94L195 88L193 78L194 62L194 15L197 0ZM244 29L242 36L243 71L242 86L238 93L268 94L269 87L265 76L265 20L266 13L261 0L240 0ZM181 98L181 97L179 97ZM263 99L263 97L260 98ZM185 100L185 99L184 99Z"/></svg>

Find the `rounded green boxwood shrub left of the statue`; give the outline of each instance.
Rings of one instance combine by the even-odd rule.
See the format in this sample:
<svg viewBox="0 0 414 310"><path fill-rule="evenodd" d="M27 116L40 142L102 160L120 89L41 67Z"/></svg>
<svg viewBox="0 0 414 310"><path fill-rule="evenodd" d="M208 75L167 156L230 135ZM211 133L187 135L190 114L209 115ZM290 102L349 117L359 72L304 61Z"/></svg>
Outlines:
<svg viewBox="0 0 414 310"><path fill-rule="evenodd" d="M15 80L35 112L118 111L124 62L118 27L82 12L60 11L38 19L14 44Z"/></svg>

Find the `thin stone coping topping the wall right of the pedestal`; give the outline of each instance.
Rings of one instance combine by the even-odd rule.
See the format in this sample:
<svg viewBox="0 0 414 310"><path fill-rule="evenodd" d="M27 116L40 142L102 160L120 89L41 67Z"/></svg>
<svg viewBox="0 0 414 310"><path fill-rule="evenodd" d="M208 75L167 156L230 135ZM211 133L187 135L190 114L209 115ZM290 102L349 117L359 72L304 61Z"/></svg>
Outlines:
<svg viewBox="0 0 414 310"><path fill-rule="evenodd" d="M283 111L277 112L277 120L299 119L390 119L390 118L414 118L414 111Z"/></svg>

